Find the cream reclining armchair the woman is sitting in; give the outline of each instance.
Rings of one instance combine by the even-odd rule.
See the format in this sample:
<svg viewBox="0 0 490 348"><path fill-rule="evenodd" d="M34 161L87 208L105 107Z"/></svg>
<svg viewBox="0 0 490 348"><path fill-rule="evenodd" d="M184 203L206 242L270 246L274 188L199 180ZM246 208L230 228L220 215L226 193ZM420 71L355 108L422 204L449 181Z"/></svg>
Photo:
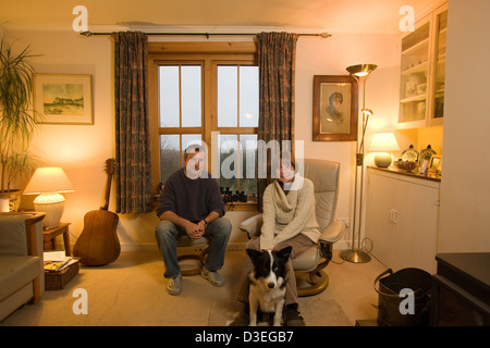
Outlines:
<svg viewBox="0 0 490 348"><path fill-rule="evenodd" d="M334 221L339 195L339 171L338 162L314 159L304 161L304 176L315 185L315 208L321 236L316 246L293 259L296 277L309 283L309 286L301 287L302 282L298 282L298 296L319 294L329 284L329 277L323 269L332 259L333 244L341 238L346 228L344 222ZM245 220L238 228L247 233L248 238L252 239L260 235L262 215L258 214Z"/></svg>

